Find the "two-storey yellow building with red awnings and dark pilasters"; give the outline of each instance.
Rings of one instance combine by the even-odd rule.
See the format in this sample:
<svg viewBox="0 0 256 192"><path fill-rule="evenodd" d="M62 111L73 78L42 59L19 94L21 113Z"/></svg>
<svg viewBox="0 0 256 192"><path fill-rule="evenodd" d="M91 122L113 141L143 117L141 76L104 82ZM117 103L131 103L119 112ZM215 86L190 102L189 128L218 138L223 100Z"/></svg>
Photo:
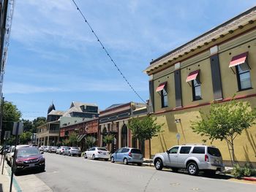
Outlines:
<svg viewBox="0 0 256 192"><path fill-rule="evenodd" d="M236 94L256 107L256 7L151 61L145 72L154 115L165 123L164 132L151 140L151 156L178 142L202 143L206 138L193 133L191 120L207 112L211 102L230 101ZM228 164L227 144L212 145ZM256 126L235 139L235 155L256 164Z"/></svg>

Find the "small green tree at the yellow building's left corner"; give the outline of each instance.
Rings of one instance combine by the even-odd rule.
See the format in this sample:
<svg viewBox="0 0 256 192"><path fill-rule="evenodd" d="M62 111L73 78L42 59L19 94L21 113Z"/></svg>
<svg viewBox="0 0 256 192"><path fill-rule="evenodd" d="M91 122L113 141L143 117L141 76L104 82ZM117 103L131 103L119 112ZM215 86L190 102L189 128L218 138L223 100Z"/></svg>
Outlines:
<svg viewBox="0 0 256 192"><path fill-rule="evenodd" d="M128 128L132 131L132 137L139 140L140 146L143 145L145 140L149 139L150 141L152 137L157 137L157 134L162 132L161 128L164 123L158 125L156 120L157 118L153 118L150 115L143 118L132 118L129 120Z"/></svg>

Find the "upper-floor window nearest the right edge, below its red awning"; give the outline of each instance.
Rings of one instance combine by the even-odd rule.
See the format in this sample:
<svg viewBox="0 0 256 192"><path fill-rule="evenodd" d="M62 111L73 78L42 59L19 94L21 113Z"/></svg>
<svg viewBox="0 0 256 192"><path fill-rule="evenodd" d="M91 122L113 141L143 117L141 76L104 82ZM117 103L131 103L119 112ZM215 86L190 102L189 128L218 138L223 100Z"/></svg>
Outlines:
<svg viewBox="0 0 256 192"><path fill-rule="evenodd" d="M236 66L236 77L239 91L252 88L249 66L246 63Z"/></svg>

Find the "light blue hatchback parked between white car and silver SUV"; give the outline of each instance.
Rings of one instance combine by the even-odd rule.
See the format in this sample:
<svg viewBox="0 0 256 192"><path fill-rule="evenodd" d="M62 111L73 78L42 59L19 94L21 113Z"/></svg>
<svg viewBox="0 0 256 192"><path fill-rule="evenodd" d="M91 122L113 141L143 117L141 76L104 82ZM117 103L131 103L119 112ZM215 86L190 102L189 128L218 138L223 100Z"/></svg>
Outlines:
<svg viewBox="0 0 256 192"><path fill-rule="evenodd" d="M124 164L135 163L139 166L143 164L143 154L139 149L131 147L123 147L116 150L110 157L110 161L123 162Z"/></svg>

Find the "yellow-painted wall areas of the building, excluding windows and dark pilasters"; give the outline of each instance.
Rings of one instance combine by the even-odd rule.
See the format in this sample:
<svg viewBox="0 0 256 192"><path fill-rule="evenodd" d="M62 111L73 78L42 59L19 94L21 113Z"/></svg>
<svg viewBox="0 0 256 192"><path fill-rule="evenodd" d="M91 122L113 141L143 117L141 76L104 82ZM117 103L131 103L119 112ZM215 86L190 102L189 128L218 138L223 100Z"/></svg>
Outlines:
<svg viewBox="0 0 256 192"><path fill-rule="evenodd" d="M233 39L219 43L218 45L219 67L222 80L223 101L228 100L236 94L241 101L249 101L252 107L256 107L256 31L250 31L239 35ZM248 61L252 89L238 91L238 82L236 74L230 69L229 64L233 56L249 52ZM199 53L192 58L181 61L181 91L182 107L176 107L174 66L157 72L153 75L154 80L154 107L158 123L165 123L164 132L151 141L151 154L163 152L167 148L177 145L176 134L181 134L180 144L201 143L202 138L192 132L191 120L200 117L199 111L208 112L212 101L214 101L213 85L211 80L211 61L210 50ZM202 99L192 101L192 88L186 82L189 72L200 69L201 95ZM236 69L234 69L236 72ZM162 108L161 97L155 91L159 83L167 81L168 107ZM200 117L202 118L202 117ZM176 119L181 119L181 123L174 123ZM245 142L246 141L246 142ZM256 126L244 131L241 136L235 140L235 153L238 161L256 162ZM208 144L210 144L208 142ZM230 160L229 151L225 142L216 141L213 143L219 147L224 160Z"/></svg>

